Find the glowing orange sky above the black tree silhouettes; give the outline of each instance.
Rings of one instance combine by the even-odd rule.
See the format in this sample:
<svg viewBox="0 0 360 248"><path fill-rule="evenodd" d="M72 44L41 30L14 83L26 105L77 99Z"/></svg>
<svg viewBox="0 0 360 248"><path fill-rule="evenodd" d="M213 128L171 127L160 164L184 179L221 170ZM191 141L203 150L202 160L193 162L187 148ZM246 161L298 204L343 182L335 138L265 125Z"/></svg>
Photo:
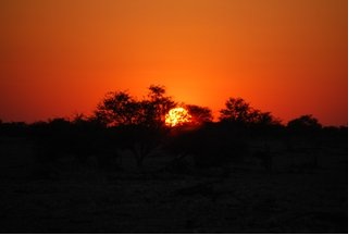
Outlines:
<svg viewBox="0 0 360 248"><path fill-rule="evenodd" d="M0 32L3 121L161 84L215 113L241 97L284 122L347 125L346 0L3 0Z"/></svg>

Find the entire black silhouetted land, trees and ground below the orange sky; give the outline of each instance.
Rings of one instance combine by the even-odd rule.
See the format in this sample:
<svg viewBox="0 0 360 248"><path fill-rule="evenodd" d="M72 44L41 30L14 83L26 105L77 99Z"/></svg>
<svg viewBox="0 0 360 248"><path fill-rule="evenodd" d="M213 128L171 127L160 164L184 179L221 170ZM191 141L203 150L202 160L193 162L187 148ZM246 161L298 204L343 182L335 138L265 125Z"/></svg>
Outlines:
<svg viewBox="0 0 360 248"><path fill-rule="evenodd" d="M182 106L190 123L165 115ZM347 233L348 129L109 92L89 116L0 121L0 233Z"/></svg>

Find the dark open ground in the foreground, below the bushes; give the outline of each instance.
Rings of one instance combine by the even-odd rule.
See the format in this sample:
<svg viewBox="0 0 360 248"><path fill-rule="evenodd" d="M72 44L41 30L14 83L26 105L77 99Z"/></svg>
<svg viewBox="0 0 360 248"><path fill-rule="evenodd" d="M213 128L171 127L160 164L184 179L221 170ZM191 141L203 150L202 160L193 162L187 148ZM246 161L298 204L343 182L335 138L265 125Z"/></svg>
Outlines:
<svg viewBox="0 0 360 248"><path fill-rule="evenodd" d="M2 166L16 170L27 156L9 144ZM347 233L347 154L323 151L314 170L285 170L288 157L274 158L273 172L233 164L227 177L78 169L36 178L3 170L0 233ZM157 163L165 162L153 156L148 164Z"/></svg>

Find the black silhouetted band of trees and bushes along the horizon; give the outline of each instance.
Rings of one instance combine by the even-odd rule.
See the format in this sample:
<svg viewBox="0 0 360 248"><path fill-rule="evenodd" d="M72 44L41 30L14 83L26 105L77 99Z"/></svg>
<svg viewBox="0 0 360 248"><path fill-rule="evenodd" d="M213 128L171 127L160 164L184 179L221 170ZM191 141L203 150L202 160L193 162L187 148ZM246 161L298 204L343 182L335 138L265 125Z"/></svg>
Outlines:
<svg viewBox="0 0 360 248"><path fill-rule="evenodd" d="M164 117L177 106L188 110L191 122L169 127ZM324 127L310 114L285 125L241 98L229 98L220 111L219 122L214 122L209 108L175 102L163 86L151 85L141 99L127 91L107 94L90 116L79 114L71 120L32 124L0 122L0 136L34 141L36 161L40 164L65 156L86 164L88 158L95 157L100 169L116 170L126 150L142 170L149 154L157 151L174 158L170 165L182 165L184 158L191 157L197 168L218 166L229 173L226 164L240 163L250 153L269 169L272 145L266 140L291 142L291 138L299 137L316 149L322 142L346 141L347 127ZM253 140L260 144L264 140L265 145L253 149Z"/></svg>

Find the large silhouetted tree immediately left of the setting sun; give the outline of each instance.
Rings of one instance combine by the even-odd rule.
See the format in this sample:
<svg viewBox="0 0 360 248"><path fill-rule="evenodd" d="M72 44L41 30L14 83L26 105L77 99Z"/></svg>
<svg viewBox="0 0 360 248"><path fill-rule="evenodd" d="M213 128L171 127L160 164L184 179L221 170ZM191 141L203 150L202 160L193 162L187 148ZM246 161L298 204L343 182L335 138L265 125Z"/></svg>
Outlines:
<svg viewBox="0 0 360 248"><path fill-rule="evenodd" d="M127 91L110 92L98 104L95 119L108 127L120 129L121 147L129 149L137 165L157 148L164 135L164 115L175 107L163 86L151 85L148 95L137 100Z"/></svg>

